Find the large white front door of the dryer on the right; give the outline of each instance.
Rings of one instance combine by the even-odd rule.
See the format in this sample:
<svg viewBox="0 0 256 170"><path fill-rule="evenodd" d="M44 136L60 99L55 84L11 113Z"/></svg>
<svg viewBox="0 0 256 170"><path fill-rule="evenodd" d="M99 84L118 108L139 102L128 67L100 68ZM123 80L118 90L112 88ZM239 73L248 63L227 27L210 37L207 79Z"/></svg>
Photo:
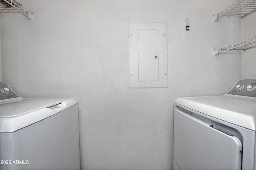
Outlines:
<svg viewBox="0 0 256 170"><path fill-rule="evenodd" d="M241 169L242 143L237 137L174 108L174 169Z"/></svg>

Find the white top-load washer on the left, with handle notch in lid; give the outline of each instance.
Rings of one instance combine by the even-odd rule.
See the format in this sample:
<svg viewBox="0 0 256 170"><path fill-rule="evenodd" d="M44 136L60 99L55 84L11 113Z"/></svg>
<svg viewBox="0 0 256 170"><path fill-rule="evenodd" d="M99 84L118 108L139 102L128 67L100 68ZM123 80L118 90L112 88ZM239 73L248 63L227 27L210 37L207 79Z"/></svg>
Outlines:
<svg viewBox="0 0 256 170"><path fill-rule="evenodd" d="M0 82L0 170L80 169L78 102L25 99Z"/></svg>

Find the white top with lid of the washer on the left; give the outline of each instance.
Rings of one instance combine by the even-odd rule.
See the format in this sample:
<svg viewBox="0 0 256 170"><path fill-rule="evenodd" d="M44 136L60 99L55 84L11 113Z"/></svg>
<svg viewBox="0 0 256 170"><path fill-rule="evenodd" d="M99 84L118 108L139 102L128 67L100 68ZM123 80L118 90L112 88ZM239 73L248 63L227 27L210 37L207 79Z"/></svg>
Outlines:
<svg viewBox="0 0 256 170"><path fill-rule="evenodd" d="M0 133L11 133L77 104L75 99L21 99L0 104Z"/></svg>

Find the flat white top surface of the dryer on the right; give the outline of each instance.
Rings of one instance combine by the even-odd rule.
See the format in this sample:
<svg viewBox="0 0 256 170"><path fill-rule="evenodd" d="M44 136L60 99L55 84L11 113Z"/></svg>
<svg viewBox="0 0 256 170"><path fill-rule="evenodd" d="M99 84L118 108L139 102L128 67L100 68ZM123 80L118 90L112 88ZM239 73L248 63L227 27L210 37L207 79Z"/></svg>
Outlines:
<svg viewBox="0 0 256 170"><path fill-rule="evenodd" d="M256 100L232 96L177 98L175 103L255 131Z"/></svg>

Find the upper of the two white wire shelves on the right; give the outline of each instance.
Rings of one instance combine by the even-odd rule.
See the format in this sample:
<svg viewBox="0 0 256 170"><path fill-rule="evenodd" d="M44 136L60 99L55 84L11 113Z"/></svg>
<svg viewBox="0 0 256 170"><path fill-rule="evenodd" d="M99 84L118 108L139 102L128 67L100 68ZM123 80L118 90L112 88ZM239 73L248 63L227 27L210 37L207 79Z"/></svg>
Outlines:
<svg viewBox="0 0 256 170"><path fill-rule="evenodd" d="M214 15L213 20L217 21L219 18L223 16L240 16L243 18L248 14L254 12L255 10L256 0L237 0L219 14Z"/></svg>

